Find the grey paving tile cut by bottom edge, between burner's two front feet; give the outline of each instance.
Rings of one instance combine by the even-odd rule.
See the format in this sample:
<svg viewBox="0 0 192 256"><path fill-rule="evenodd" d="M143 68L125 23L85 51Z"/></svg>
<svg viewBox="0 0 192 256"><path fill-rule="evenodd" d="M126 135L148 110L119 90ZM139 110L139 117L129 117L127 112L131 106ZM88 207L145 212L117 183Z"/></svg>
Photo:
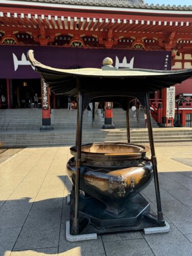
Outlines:
<svg viewBox="0 0 192 256"><path fill-rule="evenodd" d="M154 256L150 246L146 241L141 239L123 240L123 241L111 241L104 242L104 248L106 256L138 256L147 255Z"/></svg>

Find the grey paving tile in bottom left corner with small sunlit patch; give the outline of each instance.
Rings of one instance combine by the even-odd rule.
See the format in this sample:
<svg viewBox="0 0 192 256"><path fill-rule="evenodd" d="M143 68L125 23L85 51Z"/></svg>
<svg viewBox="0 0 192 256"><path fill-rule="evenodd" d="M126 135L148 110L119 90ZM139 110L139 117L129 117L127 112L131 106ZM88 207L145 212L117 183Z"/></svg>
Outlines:
<svg viewBox="0 0 192 256"><path fill-rule="evenodd" d="M10 255L21 227L0 229L0 255Z"/></svg>

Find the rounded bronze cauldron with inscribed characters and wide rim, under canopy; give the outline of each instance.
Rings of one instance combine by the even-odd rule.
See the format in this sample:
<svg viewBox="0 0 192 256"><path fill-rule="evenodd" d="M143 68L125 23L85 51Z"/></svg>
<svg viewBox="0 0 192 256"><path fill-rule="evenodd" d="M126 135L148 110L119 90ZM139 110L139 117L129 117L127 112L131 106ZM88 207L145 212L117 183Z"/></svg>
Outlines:
<svg viewBox="0 0 192 256"><path fill-rule="evenodd" d="M75 185L76 148L67 163L67 173ZM128 143L93 143L82 145L80 189L84 197L94 197L105 204L106 211L119 215L129 198L137 195L151 181L150 161L143 161L147 147Z"/></svg>

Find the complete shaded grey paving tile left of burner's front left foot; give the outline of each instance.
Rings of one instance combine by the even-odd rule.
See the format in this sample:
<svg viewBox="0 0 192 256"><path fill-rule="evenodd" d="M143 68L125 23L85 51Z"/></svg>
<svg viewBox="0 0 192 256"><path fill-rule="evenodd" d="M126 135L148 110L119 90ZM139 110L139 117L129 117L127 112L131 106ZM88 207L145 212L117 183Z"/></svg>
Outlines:
<svg viewBox="0 0 192 256"><path fill-rule="evenodd" d="M31 210L13 250L57 247L61 208Z"/></svg>

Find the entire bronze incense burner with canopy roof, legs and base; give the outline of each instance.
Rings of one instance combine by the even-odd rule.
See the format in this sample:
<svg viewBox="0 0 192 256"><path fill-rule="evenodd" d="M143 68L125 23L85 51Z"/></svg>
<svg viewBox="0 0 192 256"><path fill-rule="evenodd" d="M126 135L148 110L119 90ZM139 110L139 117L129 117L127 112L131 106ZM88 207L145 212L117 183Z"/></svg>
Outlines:
<svg viewBox="0 0 192 256"><path fill-rule="evenodd" d="M163 227L157 159L149 93L174 86L192 76L192 69L157 71L116 69L106 58L102 69L62 70L28 59L55 94L78 95L76 143L67 173L72 181L70 233L106 233ZM118 84L118 86L114 86ZM138 99L146 109L151 157L147 147L130 143L129 108ZM125 111L128 143L82 145L83 111L90 102L117 102ZM157 215L140 194L154 176Z"/></svg>

